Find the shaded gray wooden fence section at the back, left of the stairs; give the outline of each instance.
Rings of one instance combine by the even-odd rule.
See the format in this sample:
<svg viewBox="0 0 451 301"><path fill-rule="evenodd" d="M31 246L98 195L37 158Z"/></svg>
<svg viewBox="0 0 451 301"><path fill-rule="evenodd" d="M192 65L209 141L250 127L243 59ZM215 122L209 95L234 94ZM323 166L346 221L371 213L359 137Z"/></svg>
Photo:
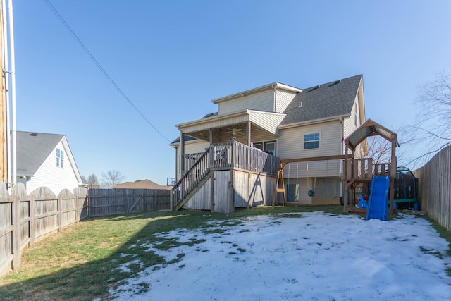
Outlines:
<svg viewBox="0 0 451 301"><path fill-rule="evenodd" d="M170 192L163 189L89 189L88 216L170 209Z"/></svg>

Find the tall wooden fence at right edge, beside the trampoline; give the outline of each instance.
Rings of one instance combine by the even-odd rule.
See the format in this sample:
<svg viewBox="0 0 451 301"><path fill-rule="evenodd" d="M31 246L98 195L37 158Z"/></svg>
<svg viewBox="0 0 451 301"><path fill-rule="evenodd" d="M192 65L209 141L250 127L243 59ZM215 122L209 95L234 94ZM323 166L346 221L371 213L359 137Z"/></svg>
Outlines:
<svg viewBox="0 0 451 301"><path fill-rule="evenodd" d="M414 171L414 175L418 178L420 209L451 231L451 145Z"/></svg>

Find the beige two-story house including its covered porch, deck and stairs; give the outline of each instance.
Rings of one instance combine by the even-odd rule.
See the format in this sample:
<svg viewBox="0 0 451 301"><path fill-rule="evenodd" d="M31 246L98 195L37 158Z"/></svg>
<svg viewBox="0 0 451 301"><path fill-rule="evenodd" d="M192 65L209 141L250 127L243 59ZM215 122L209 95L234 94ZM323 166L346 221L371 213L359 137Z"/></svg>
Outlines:
<svg viewBox="0 0 451 301"><path fill-rule="evenodd" d="M276 193L274 191L276 171L273 169L274 162L267 164L266 155L269 158L272 154L278 159L342 155L345 152L344 137L350 135L365 121L362 75L307 89L274 82L211 102L218 104L217 113L176 125L180 130L180 137L171 143L176 149L175 173L180 183L174 188L175 194L178 194L175 197L175 209L179 209L176 206L179 199L185 199L184 208L211 211L233 211L236 207L271 204ZM228 152L221 150L221 146L224 148L224 144L230 142L232 138L236 143L249 149L230 148ZM254 149L266 152L254 153ZM195 167L194 164L198 164L196 162L206 152L209 153L208 161L204 158L202 163L206 167ZM362 144L357 152L363 156L366 145ZM222 153L226 153L226 165L221 161L224 159ZM233 153L233 156L230 153ZM266 169L261 166L262 158L265 160ZM257 167L247 168L230 160L240 161L240 164L242 161L249 164L256 161ZM249 169L249 173L245 176L230 173L226 178L211 175L211 170L227 168L240 171ZM204 172L199 172L201 170ZM343 195L340 160L293 162L286 164L283 171L288 202L340 203ZM264 175L264 180L252 176L255 174ZM208 175L213 178L199 179L208 178ZM193 178L196 179L194 182ZM221 183L223 188L219 187L217 183L219 180L224 181ZM208 187L202 188L205 185ZM207 191L208 189L213 192ZM215 192L217 190L226 189L230 189L230 193L223 194L230 197L229 207L216 210L215 206L218 206L221 197L213 195L217 195ZM184 192L181 192L182 190ZM195 197L194 190L202 193L197 192L200 195ZM255 202L256 191L261 192L257 196L259 202ZM312 191L314 193L311 193ZM190 198L192 202L186 200ZM210 202L197 206L202 199L210 199ZM280 202L280 195L277 195L276 199Z"/></svg>

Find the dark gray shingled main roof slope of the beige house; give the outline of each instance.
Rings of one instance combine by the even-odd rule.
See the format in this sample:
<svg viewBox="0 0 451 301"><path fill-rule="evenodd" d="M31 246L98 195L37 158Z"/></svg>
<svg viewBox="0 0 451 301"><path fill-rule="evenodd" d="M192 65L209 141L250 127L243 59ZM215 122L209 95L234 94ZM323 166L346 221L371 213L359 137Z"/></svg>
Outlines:
<svg viewBox="0 0 451 301"><path fill-rule="evenodd" d="M350 114L362 75L309 87L296 94L280 125Z"/></svg>

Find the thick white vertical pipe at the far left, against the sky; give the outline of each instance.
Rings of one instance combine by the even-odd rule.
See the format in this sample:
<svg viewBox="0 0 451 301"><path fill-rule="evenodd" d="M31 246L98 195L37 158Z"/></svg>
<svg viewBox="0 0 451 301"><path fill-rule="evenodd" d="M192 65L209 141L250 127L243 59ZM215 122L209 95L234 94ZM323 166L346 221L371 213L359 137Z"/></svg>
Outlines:
<svg viewBox="0 0 451 301"><path fill-rule="evenodd" d="M11 178L13 188L17 183L16 142L16 58L14 56L13 1L8 0L9 56L11 59Z"/></svg>

